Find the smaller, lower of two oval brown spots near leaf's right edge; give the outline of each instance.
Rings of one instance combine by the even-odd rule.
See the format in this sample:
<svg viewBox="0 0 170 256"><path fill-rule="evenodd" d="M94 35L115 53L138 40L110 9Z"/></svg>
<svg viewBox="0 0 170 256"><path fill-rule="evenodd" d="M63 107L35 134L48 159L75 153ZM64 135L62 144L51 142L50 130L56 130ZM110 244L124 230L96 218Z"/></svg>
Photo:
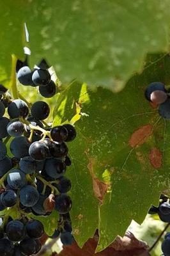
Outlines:
<svg viewBox="0 0 170 256"><path fill-rule="evenodd" d="M151 148L149 159L153 168L158 169L162 166L162 152L158 148Z"/></svg>

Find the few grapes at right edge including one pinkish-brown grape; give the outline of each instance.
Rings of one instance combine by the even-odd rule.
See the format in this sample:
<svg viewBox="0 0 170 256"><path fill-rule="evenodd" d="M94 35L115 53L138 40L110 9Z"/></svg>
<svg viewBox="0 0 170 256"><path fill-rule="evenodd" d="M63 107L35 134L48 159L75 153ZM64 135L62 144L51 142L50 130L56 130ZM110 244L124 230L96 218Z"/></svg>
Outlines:
<svg viewBox="0 0 170 256"><path fill-rule="evenodd" d="M163 118L170 119L170 97L165 85L160 82L150 83L144 93L147 100L158 106L158 113Z"/></svg>

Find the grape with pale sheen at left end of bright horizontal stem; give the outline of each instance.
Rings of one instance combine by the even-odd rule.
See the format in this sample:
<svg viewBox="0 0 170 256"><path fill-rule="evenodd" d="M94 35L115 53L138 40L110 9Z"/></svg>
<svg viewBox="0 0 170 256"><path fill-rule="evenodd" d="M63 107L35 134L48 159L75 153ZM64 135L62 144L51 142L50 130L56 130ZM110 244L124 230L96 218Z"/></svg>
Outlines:
<svg viewBox="0 0 170 256"><path fill-rule="evenodd" d="M24 124L20 121L11 121L7 125L7 131L12 137L20 137L24 133Z"/></svg>

